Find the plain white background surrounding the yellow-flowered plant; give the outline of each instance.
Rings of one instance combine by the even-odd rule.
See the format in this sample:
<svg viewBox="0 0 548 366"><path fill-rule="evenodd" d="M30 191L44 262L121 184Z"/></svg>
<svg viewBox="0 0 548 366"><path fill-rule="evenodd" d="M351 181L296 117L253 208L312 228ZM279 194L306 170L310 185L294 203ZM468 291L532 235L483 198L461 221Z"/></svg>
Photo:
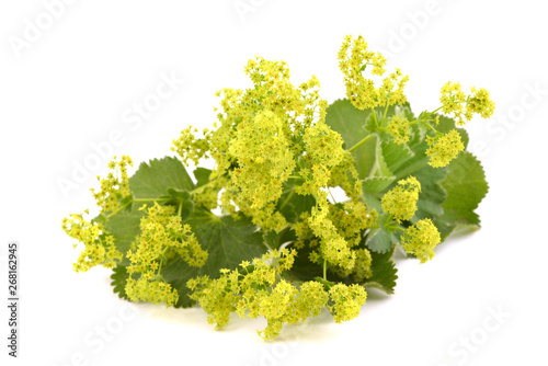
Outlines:
<svg viewBox="0 0 548 366"><path fill-rule="evenodd" d="M541 1L68 2L52 8L56 18L46 8L59 1L0 5L1 277L7 243L18 240L22 300L16 361L1 307L2 365L548 363ZM447 240L426 264L399 259L396 294L369 294L358 319L334 324L323 313L270 343L255 333L263 320L236 317L215 331L199 308L128 306L109 271L72 272L78 251L60 221L93 204L89 188L110 158L98 160L92 145L110 152L118 134L112 155L137 164L171 155L182 128L213 124L216 90L250 85L243 66L255 55L287 61L296 84L316 75L333 102L344 95L336 52L345 34L364 35L410 76L414 112L436 108L448 80L491 92L491 122L467 126L490 183L481 230ZM135 119L162 75L184 82ZM76 168L84 163L87 178ZM65 193L64 180L73 183Z"/></svg>

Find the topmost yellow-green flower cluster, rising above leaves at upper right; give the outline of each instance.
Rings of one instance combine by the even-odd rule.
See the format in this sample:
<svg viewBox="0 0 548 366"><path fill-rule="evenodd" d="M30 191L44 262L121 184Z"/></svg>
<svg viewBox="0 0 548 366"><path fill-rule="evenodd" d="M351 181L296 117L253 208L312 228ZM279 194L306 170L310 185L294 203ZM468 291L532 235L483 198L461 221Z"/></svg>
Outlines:
<svg viewBox="0 0 548 366"><path fill-rule="evenodd" d="M383 76L385 73L386 59L379 53L367 49L362 36L353 39L351 36L344 38L339 50L339 68L344 73L346 98L358 110L368 110L376 106L403 104L407 101L403 88L409 78L401 75L399 69L385 77L379 88L375 82L366 79L363 71L372 66L372 75Z"/></svg>

